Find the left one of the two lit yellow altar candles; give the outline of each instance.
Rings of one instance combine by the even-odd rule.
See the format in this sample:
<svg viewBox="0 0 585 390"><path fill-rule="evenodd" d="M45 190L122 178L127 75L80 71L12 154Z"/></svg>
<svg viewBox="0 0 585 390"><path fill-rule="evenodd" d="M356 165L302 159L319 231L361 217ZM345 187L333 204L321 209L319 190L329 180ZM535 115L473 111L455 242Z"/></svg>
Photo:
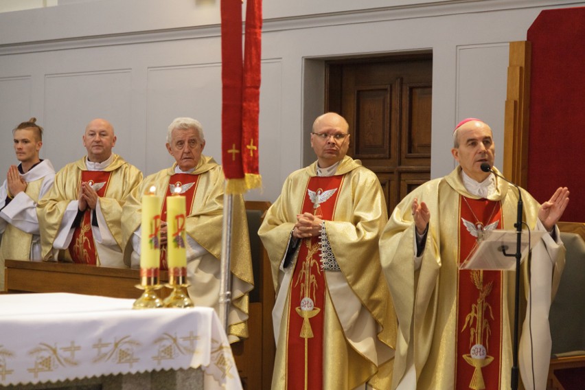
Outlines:
<svg viewBox="0 0 585 390"><path fill-rule="evenodd" d="M161 197L155 195L156 188L142 196L142 231L140 242L140 268L159 268L161 257Z"/></svg>

